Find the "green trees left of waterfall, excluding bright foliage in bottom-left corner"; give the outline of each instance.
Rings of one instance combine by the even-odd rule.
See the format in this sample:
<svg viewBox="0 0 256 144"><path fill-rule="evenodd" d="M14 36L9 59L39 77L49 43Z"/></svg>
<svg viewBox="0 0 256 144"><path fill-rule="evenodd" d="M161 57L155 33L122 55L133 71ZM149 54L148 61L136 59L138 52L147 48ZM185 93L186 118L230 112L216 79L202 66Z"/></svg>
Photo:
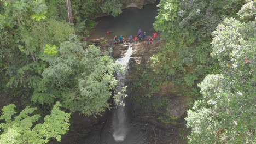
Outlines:
<svg viewBox="0 0 256 144"><path fill-rule="evenodd" d="M68 37L75 30L65 22L66 14L60 14L63 6L66 9L65 2L3 0L1 3L0 61L4 78L1 88L25 91L22 97L26 99L33 93L32 101L49 106L61 100L72 112L86 115L95 115L109 107L107 100L116 85L114 60L103 56L98 47L86 46L74 35ZM102 4L103 1L72 1L75 19L80 22L94 12L102 13ZM95 11L89 14L88 9ZM115 13L111 11L108 12ZM83 17L83 12L88 15ZM94 24L86 19L75 28L77 32L85 31Z"/></svg>

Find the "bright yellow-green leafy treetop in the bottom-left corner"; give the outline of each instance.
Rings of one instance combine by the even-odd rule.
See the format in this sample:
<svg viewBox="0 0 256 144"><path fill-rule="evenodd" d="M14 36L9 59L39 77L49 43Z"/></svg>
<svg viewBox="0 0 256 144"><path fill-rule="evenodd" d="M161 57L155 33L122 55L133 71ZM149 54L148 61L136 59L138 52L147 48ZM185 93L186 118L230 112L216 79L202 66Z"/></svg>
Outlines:
<svg viewBox="0 0 256 144"><path fill-rule="evenodd" d="M54 138L61 141L61 135L69 130L70 114L60 109L61 104L56 103L50 115L45 116L44 123L35 124L40 115L34 115L35 108L26 107L15 115L16 106L10 104L4 106L0 120L3 130L0 135L0 143L48 143Z"/></svg>

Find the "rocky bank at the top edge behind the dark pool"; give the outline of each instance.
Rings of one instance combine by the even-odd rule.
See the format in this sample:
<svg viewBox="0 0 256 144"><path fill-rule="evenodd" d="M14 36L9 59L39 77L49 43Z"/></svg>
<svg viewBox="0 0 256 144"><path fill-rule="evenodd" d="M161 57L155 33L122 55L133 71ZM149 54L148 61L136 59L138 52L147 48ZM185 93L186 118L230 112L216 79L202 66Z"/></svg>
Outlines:
<svg viewBox="0 0 256 144"><path fill-rule="evenodd" d="M123 8L136 7L141 9L143 5L156 3L157 0L120 0Z"/></svg>

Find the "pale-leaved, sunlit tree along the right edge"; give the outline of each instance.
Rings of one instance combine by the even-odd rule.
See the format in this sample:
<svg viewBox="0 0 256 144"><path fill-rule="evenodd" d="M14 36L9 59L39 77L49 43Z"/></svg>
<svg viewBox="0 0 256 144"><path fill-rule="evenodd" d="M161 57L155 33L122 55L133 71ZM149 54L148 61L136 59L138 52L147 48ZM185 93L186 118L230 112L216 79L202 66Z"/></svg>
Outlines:
<svg viewBox="0 0 256 144"><path fill-rule="evenodd" d="M238 13L247 23L225 19L213 32L212 56L219 62L220 74L206 76L199 85L203 99L195 101L186 118L189 143L256 142L256 2L247 2ZM247 15L248 5L252 7Z"/></svg>

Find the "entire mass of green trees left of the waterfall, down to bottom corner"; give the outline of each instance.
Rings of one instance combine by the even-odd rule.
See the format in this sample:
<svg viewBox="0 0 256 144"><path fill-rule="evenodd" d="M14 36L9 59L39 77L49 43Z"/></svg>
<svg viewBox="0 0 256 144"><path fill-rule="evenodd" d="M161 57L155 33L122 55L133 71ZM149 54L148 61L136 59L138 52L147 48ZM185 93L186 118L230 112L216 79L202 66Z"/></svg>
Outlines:
<svg viewBox="0 0 256 144"><path fill-rule="evenodd" d="M120 8L120 1L72 1L74 23L69 23L65 1L0 1L0 97L20 101L19 107L3 108L0 143L60 141L70 117L61 109L88 116L109 109L118 65L81 39L94 26L94 14L117 16ZM17 115L15 109L24 110ZM34 111L49 114L44 123L35 124L42 118Z"/></svg>

